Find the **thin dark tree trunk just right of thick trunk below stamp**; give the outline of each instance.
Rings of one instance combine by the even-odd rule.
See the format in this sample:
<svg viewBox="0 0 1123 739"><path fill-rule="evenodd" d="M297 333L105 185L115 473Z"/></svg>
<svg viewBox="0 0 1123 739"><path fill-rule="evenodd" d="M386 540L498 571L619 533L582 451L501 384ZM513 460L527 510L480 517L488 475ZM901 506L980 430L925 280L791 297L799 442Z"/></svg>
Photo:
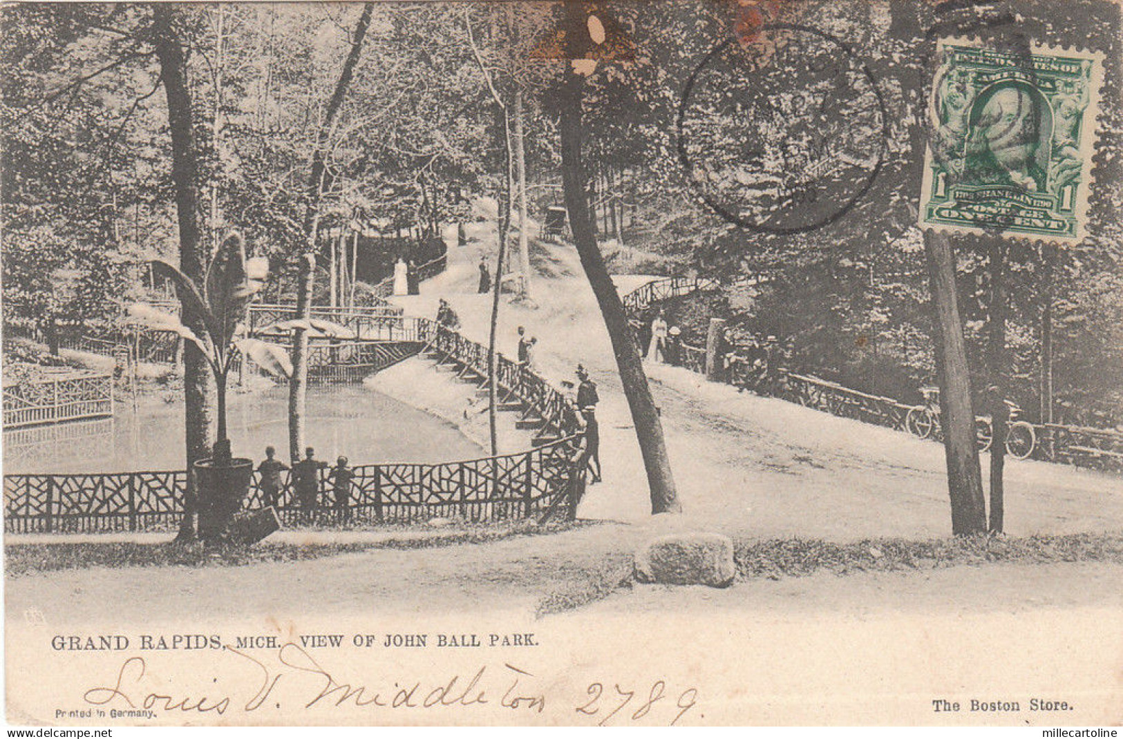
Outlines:
<svg viewBox="0 0 1123 739"><path fill-rule="evenodd" d="M1003 472L1006 465L1006 244L1001 236L989 236L990 310L988 362L990 387L990 532L1001 533L1005 513Z"/></svg>

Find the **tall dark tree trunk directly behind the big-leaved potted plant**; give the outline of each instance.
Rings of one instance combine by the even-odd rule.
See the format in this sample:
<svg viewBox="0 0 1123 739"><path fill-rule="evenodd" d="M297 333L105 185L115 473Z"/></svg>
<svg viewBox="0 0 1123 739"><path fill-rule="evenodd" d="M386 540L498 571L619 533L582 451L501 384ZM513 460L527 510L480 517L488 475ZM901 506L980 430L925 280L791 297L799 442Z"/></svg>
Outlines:
<svg viewBox="0 0 1123 739"><path fill-rule="evenodd" d="M186 62L179 30L175 28L180 6L153 6L153 38L159 60L167 97L167 120L172 137L172 184L180 235L180 270L197 283L203 280L203 248L199 239L199 190L194 133L192 130L191 93L186 83ZM183 323L203 335L203 317L190 302L182 302ZM198 486L193 465L209 455L210 439L210 366L202 352L185 343L183 353L184 437L186 439L188 486L184 514L176 539L194 538L194 514L198 510Z"/></svg>

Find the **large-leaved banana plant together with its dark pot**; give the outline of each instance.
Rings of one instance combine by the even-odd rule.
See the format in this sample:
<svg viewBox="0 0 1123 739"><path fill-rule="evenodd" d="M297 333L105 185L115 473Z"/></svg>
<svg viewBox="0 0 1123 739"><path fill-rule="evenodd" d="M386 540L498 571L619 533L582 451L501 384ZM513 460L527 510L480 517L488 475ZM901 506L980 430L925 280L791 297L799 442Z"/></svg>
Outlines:
<svg viewBox="0 0 1123 739"><path fill-rule="evenodd" d="M232 232L222 240L207 270L203 285L197 285L166 262L155 259L152 265L155 274L175 284L184 309L202 317L203 334L199 336L176 316L150 305L137 303L128 310L135 320L149 328L174 332L199 347L214 375L217 439L211 456L193 465L199 493L199 538L213 541L222 537L241 509L254 474L252 459L231 454L227 435L227 378L235 361L241 356L282 376L292 374L292 365L283 347L246 335L246 309L265 284L268 261L265 257L247 259L245 243L239 234Z"/></svg>

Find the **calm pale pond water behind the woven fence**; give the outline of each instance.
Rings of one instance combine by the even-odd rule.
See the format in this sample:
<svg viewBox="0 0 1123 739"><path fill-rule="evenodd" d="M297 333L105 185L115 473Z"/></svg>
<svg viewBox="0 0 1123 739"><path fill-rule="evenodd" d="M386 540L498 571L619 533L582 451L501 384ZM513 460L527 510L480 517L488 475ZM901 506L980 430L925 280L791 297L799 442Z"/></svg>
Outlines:
<svg viewBox="0 0 1123 739"><path fill-rule="evenodd" d="M289 462L289 389L270 387L229 398L235 456L265 456L274 446ZM75 421L3 434L3 472L104 473L183 469L183 401L118 401L111 419ZM454 425L362 385L308 389L307 446L317 459L437 463L486 456Z"/></svg>

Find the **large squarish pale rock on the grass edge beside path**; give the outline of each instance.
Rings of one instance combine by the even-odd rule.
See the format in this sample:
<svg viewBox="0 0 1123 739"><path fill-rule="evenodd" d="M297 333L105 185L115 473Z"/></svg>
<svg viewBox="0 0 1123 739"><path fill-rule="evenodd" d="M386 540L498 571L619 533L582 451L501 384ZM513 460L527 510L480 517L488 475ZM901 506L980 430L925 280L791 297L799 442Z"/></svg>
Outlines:
<svg viewBox="0 0 1123 739"><path fill-rule="evenodd" d="M725 587L736 574L733 541L720 533L672 533L636 553L636 578L641 583Z"/></svg>

